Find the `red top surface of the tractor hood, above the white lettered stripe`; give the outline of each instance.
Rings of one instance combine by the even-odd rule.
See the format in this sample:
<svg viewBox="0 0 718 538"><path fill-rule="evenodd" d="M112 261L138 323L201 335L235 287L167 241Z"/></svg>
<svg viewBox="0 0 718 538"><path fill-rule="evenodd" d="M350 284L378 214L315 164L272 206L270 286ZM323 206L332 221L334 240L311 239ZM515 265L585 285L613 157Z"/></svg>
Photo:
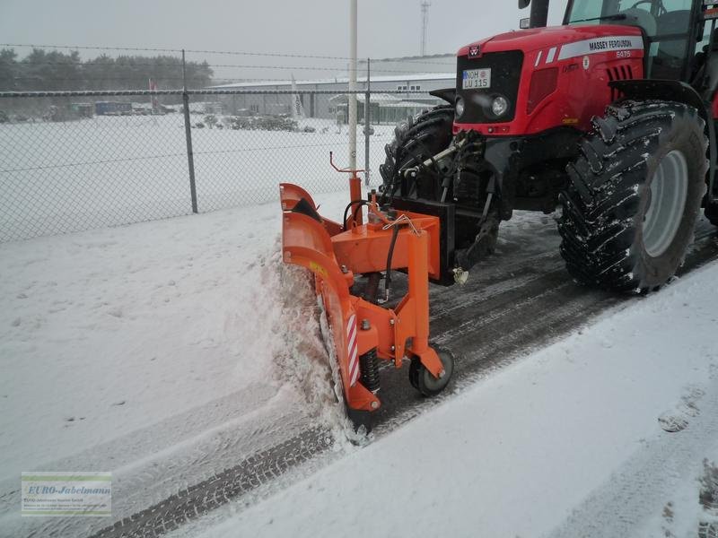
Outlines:
<svg viewBox="0 0 718 538"><path fill-rule="evenodd" d="M504 52L507 50L521 50L527 53L541 48L559 48L567 43L612 36L641 37L642 33L636 26L623 24L553 26L532 30L516 30L481 39L462 47L458 52L458 56L481 57L489 52Z"/></svg>

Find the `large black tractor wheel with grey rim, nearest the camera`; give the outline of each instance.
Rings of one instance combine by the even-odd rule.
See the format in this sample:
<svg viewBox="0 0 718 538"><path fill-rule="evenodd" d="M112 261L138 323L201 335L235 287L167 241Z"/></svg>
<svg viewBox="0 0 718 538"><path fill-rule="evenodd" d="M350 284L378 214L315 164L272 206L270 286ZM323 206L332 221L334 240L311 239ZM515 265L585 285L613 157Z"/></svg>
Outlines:
<svg viewBox="0 0 718 538"><path fill-rule="evenodd" d="M594 117L560 196L561 255L577 282L657 290L693 241L705 194L705 123L672 101L626 101Z"/></svg>

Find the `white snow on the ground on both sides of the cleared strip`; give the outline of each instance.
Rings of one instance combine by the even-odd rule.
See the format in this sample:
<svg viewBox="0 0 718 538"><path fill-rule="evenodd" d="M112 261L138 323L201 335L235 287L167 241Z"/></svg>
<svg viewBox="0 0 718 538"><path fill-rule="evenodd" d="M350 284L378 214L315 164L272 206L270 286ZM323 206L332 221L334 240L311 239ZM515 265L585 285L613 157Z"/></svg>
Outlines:
<svg viewBox="0 0 718 538"><path fill-rule="evenodd" d="M338 216L346 192L317 201ZM317 424L337 432L333 464L177 534L679 537L712 521L718 266L357 449L279 230L274 203L0 245L0 535L87 534L21 518L22 471L109 471L129 516Z"/></svg>

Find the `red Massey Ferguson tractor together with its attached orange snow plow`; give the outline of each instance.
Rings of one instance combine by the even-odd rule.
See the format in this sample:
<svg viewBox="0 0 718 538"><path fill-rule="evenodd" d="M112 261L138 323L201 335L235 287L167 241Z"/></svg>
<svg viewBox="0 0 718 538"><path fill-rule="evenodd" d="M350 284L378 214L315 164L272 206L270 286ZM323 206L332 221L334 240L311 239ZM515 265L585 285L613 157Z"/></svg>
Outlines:
<svg viewBox="0 0 718 538"><path fill-rule="evenodd" d="M427 281L465 282L513 210L560 205L568 273L611 291L668 282L702 207L718 225L718 0L568 0L551 28L548 1L529 6L523 30L460 49L456 87L433 92L448 104L397 127L380 194L349 170L334 222L282 187L285 262L315 274L355 420L381 405L379 360L410 360L424 395L446 386ZM408 275L396 304L393 270Z"/></svg>

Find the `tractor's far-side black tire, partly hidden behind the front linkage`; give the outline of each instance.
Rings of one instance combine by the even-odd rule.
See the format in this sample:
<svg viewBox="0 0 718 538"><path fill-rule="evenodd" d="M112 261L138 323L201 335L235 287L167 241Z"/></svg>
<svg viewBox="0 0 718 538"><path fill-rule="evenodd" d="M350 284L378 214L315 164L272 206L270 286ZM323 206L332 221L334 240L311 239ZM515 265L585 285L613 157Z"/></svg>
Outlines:
<svg viewBox="0 0 718 538"><path fill-rule="evenodd" d="M398 192L401 185L399 170L416 166L449 147L453 139L453 121L454 108L451 105L441 105L416 117L409 117L394 129L394 140L384 148L386 161L379 167L384 193L393 195ZM407 195L412 198L428 197L438 200L440 174L438 170L425 170L425 173L432 174L433 178L422 180L421 183L426 186L425 190L432 192L418 193L415 182L409 187Z"/></svg>

